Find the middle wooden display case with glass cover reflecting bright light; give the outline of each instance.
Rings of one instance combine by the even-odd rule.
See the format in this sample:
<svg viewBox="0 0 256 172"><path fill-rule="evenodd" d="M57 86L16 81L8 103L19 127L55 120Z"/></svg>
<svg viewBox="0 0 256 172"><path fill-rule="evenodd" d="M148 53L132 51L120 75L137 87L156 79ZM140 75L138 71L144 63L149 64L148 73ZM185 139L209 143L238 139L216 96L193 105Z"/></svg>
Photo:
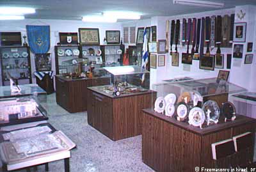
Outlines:
<svg viewBox="0 0 256 172"><path fill-rule="evenodd" d="M88 123L113 141L142 132L141 109L152 106L156 92L149 90L148 71L139 66L104 67L111 84L88 88ZM144 81L140 78L144 75ZM138 79L136 79L138 77Z"/></svg>

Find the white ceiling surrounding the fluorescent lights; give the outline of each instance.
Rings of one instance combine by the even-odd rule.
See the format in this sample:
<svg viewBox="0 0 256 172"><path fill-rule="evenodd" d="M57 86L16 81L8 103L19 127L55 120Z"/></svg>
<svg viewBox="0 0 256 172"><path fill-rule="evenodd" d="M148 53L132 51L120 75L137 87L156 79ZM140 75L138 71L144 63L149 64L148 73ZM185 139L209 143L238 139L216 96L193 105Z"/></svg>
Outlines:
<svg viewBox="0 0 256 172"><path fill-rule="evenodd" d="M210 1L210 0L207 0ZM224 8L255 4L255 0L211 0L225 3ZM202 8L173 4L172 0L0 0L0 6L26 6L36 8L36 13L26 15L29 19L81 20L83 15L104 11L124 10L143 13L143 18L172 16L184 13L204 12L216 8Z"/></svg>

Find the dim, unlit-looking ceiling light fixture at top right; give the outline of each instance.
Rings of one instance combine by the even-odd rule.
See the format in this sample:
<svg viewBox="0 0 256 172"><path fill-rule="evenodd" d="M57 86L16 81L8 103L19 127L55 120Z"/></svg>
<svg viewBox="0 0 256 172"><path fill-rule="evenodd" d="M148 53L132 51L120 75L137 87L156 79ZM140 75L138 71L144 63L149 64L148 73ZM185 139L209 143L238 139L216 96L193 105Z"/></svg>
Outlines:
<svg viewBox="0 0 256 172"><path fill-rule="evenodd" d="M212 8L222 8L224 6L224 3L214 3L211 1L198 1L198 0L173 0L173 4L205 6L205 7L212 7Z"/></svg>

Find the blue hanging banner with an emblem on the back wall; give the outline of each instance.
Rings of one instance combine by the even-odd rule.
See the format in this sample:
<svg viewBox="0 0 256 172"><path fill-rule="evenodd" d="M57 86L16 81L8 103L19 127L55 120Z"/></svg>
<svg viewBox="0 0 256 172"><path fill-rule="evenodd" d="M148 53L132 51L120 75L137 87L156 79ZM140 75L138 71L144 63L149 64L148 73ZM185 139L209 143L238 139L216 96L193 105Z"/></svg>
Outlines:
<svg viewBox="0 0 256 172"><path fill-rule="evenodd" d="M34 54L44 54L50 49L50 26L26 26L28 43Z"/></svg>

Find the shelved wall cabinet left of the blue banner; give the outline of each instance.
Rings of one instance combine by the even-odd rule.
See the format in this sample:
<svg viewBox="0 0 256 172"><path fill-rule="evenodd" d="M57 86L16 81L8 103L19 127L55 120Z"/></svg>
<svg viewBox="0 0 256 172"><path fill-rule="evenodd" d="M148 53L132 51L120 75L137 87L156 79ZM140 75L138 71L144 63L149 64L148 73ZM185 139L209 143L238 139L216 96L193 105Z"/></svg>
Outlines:
<svg viewBox="0 0 256 172"><path fill-rule="evenodd" d="M8 74L18 84L31 84L31 62L29 47L0 47L1 78L3 86L10 85Z"/></svg>

